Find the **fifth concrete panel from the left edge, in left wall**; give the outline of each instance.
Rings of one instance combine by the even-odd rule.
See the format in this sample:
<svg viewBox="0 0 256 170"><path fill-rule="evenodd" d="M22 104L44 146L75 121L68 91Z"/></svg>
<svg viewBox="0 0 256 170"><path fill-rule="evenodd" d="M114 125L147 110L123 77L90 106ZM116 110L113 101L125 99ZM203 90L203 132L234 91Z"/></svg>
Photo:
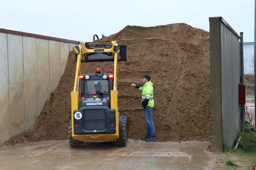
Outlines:
<svg viewBox="0 0 256 170"><path fill-rule="evenodd" d="M49 40L50 90L55 90L60 80L59 41Z"/></svg>

